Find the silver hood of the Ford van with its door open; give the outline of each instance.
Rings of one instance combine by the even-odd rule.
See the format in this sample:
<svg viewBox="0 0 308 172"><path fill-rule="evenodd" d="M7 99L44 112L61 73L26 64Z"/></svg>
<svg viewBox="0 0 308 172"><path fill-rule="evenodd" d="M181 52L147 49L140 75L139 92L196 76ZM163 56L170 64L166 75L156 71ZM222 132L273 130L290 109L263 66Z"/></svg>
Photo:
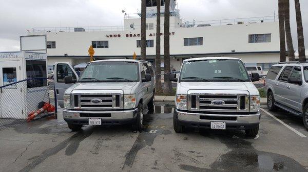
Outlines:
<svg viewBox="0 0 308 172"><path fill-rule="evenodd" d="M72 90L122 90L124 94L131 94L136 82L102 82L102 83L76 83L69 87L65 94Z"/></svg>

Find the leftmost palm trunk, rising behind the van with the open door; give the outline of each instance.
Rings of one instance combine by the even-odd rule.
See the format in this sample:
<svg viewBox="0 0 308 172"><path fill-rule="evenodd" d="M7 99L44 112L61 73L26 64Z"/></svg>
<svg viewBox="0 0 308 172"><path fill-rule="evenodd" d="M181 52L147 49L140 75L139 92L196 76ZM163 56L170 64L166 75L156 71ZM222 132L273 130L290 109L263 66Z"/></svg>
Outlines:
<svg viewBox="0 0 308 172"><path fill-rule="evenodd" d="M141 0L141 41L140 41L140 56L141 60L146 60L146 0Z"/></svg>

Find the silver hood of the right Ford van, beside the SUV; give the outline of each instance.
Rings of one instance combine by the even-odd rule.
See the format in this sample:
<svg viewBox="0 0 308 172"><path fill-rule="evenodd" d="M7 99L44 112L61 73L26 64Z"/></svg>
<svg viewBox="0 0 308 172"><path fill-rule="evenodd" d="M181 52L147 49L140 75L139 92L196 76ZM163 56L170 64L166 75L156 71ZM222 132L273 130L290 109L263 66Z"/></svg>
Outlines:
<svg viewBox="0 0 308 172"><path fill-rule="evenodd" d="M177 94L187 94L188 90L247 90L250 95L259 95L252 82L180 82Z"/></svg>

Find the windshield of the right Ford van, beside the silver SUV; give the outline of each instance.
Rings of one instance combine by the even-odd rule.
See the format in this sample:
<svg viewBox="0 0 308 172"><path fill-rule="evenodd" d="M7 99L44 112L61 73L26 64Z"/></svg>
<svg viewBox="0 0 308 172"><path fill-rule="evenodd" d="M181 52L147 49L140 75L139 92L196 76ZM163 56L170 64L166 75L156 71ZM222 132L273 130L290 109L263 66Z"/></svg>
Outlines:
<svg viewBox="0 0 308 172"><path fill-rule="evenodd" d="M240 60L199 60L183 64L180 82L250 82Z"/></svg>

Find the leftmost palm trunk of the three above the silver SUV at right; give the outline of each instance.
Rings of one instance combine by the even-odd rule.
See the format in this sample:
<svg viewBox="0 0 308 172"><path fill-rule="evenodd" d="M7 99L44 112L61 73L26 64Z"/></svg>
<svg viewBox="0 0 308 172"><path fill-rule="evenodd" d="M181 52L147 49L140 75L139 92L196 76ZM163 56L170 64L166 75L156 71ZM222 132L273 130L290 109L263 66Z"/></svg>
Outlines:
<svg viewBox="0 0 308 172"><path fill-rule="evenodd" d="M285 54L285 30L284 30L284 0L278 0L279 36L280 36L280 62L286 60Z"/></svg>

